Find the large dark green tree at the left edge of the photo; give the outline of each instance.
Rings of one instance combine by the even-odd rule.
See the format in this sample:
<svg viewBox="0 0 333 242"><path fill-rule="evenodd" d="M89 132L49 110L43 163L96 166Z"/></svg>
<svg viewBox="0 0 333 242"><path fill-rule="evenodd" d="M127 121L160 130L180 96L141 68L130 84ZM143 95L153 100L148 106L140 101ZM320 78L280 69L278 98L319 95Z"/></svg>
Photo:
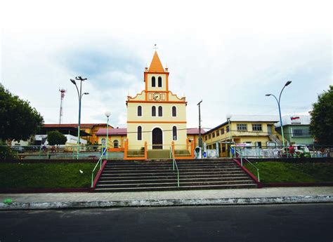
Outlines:
<svg viewBox="0 0 333 242"><path fill-rule="evenodd" d="M0 83L0 140L27 140L43 123L43 117L30 102L13 95Z"/></svg>

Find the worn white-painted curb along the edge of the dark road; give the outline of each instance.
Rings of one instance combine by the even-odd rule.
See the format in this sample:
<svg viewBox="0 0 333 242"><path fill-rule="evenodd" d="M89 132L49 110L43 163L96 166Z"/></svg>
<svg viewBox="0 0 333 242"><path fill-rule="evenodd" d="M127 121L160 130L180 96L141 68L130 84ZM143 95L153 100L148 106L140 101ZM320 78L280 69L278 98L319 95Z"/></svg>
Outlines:
<svg viewBox="0 0 333 242"><path fill-rule="evenodd" d="M333 195L280 196L226 199L160 199L124 201L65 201L65 202L13 202L0 203L0 210L39 210L63 208L112 208L112 207L164 207L164 206L217 206L254 205L276 203L333 203Z"/></svg>

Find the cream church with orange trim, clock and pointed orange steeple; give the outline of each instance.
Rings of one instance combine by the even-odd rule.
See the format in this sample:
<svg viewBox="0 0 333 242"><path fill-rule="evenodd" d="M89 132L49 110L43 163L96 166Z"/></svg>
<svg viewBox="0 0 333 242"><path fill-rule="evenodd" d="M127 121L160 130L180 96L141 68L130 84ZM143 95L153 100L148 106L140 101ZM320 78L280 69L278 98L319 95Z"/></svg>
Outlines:
<svg viewBox="0 0 333 242"><path fill-rule="evenodd" d="M169 90L169 70L162 66L155 51L150 67L145 67L144 90L135 97L128 96L128 151L170 150L189 151L186 130L185 97L179 98Z"/></svg>

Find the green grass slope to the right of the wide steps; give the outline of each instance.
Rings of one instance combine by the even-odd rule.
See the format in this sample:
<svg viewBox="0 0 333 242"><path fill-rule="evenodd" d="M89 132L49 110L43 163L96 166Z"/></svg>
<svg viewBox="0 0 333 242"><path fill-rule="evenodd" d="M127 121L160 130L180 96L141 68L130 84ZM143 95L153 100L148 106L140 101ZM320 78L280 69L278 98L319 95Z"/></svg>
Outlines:
<svg viewBox="0 0 333 242"><path fill-rule="evenodd" d="M263 161L254 165L259 168L261 182L333 182L333 163ZM256 175L249 163L244 166Z"/></svg>

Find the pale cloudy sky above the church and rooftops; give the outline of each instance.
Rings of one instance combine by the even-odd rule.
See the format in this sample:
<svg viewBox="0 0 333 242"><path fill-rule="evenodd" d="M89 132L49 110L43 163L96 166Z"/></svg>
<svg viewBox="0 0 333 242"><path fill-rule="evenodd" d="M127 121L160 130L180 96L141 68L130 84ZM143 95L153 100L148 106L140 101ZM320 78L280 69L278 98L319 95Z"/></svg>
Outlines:
<svg viewBox="0 0 333 242"><path fill-rule="evenodd" d="M226 114L307 114L332 84L331 1L1 1L1 79L46 123L77 123L70 79L84 76L81 123L126 127L127 95L144 88L153 46L188 128Z"/></svg>

